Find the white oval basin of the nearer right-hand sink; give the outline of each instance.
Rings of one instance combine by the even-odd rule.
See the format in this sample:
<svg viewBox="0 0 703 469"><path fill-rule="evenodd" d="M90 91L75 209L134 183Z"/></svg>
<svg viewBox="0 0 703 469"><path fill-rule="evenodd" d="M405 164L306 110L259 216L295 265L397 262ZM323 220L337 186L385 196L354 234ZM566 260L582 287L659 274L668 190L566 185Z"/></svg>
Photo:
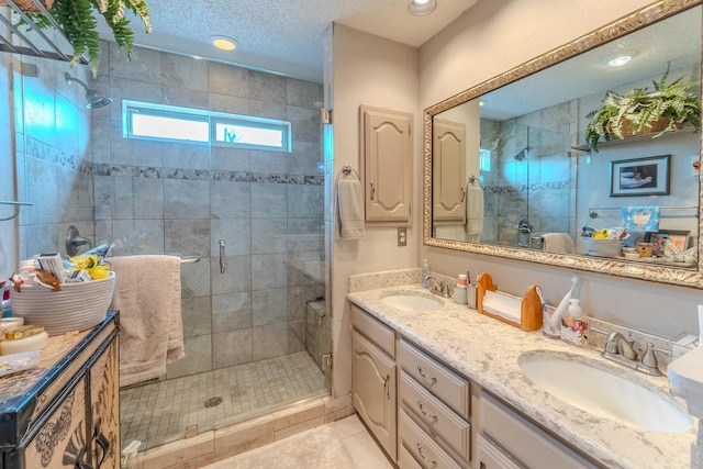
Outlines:
<svg viewBox="0 0 703 469"><path fill-rule="evenodd" d="M646 380L622 377L596 360L555 351L528 351L517 360L535 384L574 407L654 432L685 432L691 416Z"/></svg>

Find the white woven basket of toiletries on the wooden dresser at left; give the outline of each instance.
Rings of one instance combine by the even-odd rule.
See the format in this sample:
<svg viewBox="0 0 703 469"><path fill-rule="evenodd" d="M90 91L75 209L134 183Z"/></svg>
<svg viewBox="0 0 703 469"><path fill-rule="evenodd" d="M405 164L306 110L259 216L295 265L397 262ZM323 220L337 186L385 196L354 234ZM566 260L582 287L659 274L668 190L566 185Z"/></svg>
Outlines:
<svg viewBox="0 0 703 469"><path fill-rule="evenodd" d="M24 317L24 324L44 326L48 335L85 331L105 319L112 302L115 273L105 279L62 283L60 291L41 284L23 284L12 290L12 314Z"/></svg>

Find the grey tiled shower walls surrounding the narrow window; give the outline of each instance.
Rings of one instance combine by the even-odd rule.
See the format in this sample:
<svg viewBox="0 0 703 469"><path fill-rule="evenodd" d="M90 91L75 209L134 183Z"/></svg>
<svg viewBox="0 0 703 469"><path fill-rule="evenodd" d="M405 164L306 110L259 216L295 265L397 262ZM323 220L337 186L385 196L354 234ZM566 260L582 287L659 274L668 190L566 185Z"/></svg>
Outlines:
<svg viewBox="0 0 703 469"><path fill-rule="evenodd" d="M97 80L78 75L114 99L90 114L62 82L67 65L43 60L52 76L24 80L36 88L26 111L43 120L27 129L40 203L26 210L23 255L65 253L75 224L115 255L199 256L181 269L187 356L169 378L304 350L305 305L324 295L322 87L149 49L129 63L115 49L103 44ZM293 152L125 139L122 99L288 120Z"/></svg>

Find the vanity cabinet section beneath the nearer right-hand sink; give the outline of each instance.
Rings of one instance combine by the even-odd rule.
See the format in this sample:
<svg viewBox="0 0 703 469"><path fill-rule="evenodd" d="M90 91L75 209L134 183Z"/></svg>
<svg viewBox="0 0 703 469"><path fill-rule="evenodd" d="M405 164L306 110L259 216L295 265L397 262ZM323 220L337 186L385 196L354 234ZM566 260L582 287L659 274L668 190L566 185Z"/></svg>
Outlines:
<svg viewBox="0 0 703 469"><path fill-rule="evenodd" d="M588 460L491 394L479 392L478 402L475 469L604 467Z"/></svg>

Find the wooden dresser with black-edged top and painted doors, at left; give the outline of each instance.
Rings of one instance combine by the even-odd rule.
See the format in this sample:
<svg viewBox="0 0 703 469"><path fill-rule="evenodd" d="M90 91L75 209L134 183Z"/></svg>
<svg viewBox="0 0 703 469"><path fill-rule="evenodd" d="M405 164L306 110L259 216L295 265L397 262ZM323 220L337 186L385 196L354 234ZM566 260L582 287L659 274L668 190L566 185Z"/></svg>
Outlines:
<svg viewBox="0 0 703 469"><path fill-rule="evenodd" d="M0 468L120 467L119 314L0 378Z"/></svg>

